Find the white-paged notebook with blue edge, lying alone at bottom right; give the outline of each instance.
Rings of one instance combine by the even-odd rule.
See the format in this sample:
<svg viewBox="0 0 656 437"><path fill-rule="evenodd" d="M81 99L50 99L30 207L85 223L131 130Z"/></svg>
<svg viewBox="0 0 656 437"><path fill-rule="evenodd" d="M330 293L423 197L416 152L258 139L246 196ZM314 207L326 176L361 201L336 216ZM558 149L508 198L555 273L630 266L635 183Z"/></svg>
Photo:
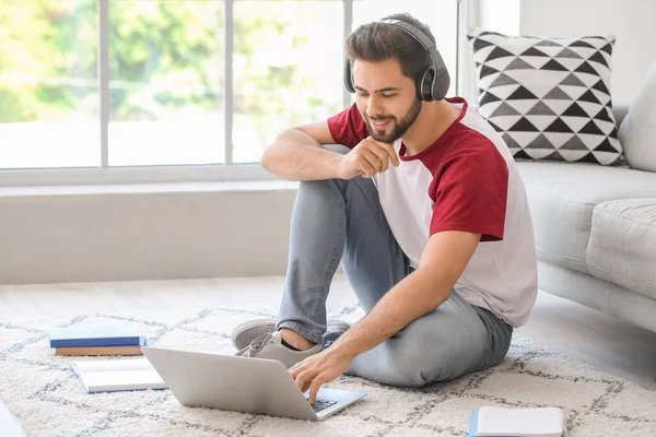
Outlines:
<svg viewBox="0 0 656 437"><path fill-rule="evenodd" d="M559 408L482 406L471 412L469 437L561 437L566 429Z"/></svg>

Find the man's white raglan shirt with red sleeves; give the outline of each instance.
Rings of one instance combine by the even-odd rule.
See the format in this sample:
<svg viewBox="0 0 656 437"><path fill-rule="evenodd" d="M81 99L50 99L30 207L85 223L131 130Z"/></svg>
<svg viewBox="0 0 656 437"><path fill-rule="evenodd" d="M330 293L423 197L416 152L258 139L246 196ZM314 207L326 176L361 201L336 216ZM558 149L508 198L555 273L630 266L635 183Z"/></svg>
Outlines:
<svg viewBox="0 0 656 437"><path fill-rule="evenodd" d="M513 327L528 320L537 285L532 221L524 182L505 142L464 98L458 119L430 147L374 176L399 246L419 267L429 237L443 231L481 234L454 290ZM354 147L370 135L355 104L328 119L336 143Z"/></svg>

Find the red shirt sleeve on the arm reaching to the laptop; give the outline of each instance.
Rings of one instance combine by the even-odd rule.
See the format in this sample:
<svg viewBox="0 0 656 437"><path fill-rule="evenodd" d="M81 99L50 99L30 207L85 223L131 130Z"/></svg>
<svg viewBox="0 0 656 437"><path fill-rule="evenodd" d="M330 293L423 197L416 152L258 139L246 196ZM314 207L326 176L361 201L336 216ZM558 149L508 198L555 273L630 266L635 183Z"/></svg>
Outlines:
<svg viewBox="0 0 656 437"><path fill-rule="evenodd" d="M494 144L461 147L445 156L431 192L435 204L430 235L441 231L465 231L481 235L481 241L503 239L508 193L508 167Z"/></svg>

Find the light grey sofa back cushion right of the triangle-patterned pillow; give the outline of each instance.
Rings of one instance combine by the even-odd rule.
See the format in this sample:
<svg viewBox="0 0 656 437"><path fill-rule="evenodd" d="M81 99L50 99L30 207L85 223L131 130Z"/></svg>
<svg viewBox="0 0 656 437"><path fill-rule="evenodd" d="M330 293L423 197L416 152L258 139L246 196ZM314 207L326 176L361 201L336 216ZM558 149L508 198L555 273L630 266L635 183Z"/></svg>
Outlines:
<svg viewBox="0 0 656 437"><path fill-rule="evenodd" d="M632 168L656 172L656 63L629 106L619 139Z"/></svg>

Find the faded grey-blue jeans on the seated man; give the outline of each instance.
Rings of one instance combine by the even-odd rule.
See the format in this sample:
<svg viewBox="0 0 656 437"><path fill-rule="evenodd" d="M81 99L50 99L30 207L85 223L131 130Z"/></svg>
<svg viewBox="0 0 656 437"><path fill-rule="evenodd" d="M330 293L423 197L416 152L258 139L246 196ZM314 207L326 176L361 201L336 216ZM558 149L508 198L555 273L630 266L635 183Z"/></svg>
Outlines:
<svg viewBox="0 0 656 437"><path fill-rule="evenodd" d="M326 299L340 261L367 312L412 273L371 179L301 182L292 214L279 329L289 328L312 342L321 342ZM453 379L499 364L508 351L512 333L509 324L452 291L434 311L356 356L347 375L400 387Z"/></svg>

